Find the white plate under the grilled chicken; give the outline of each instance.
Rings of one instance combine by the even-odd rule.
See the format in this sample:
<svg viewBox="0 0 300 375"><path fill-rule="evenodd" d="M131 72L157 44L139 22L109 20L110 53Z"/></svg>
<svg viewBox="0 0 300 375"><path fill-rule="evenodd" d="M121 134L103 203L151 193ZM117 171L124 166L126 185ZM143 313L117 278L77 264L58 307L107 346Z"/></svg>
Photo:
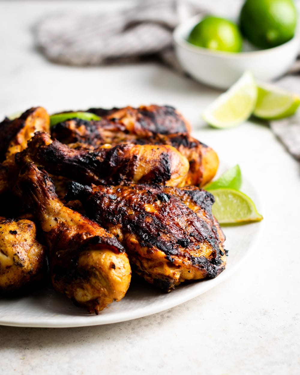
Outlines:
<svg viewBox="0 0 300 375"><path fill-rule="evenodd" d="M254 187L245 180L243 192L256 203L259 210L258 195ZM89 315L83 308L78 308L51 286L18 299L0 300L0 325L19 327L82 327L100 324L118 323L126 320L145 317L172 308L186 302L222 281L236 270L249 255L258 239L262 223L251 223L241 226L225 226L225 249L229 250L226 269L215 279L180 285L168 294L134 279L130 288L120 302L112 303L99 315Z"/></svg>

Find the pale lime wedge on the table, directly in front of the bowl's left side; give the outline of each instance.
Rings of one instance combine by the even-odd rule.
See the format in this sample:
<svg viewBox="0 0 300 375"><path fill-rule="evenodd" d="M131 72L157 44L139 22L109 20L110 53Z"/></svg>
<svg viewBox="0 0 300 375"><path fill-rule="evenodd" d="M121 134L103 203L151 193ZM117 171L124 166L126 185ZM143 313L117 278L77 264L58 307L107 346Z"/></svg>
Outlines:
<svg viewBox="0 0 300 375"><path fill-rule="evenodd" d="M204 112L204 120L213 127L226 129L246 121L257 99L257 87L251 72L220 95Z"/></svg>

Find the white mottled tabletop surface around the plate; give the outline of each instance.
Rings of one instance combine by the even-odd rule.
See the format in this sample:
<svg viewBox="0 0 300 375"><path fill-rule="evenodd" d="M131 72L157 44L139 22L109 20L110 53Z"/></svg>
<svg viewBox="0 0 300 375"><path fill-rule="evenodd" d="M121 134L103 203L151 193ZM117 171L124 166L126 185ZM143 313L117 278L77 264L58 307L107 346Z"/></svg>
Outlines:
<svg viewBox="0 0 300 375"><path fill-rule="evenodd" d="M162 66L70 68L50 64L34 50L30 28L47 12L123 5L1 1L0 117L35 105L51 112L172 104L200 132L201 141L229 165L239 163L255 184L263 201L264 233L231 278L168 311L98 327L0 327L0 374L297 375L299 163L266 125L206 127L201 110L218 93Z"/></svg>

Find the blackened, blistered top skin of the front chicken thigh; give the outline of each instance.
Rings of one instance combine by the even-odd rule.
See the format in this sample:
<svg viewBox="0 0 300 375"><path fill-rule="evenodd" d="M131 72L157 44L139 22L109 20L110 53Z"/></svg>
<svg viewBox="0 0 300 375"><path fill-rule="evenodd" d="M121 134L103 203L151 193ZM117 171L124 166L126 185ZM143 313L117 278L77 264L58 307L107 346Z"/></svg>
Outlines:
<svg viewBox="0 0 300 375"><path fill-rule="evenodd" d="M178 197L170 190L177 192ZM197 190L198 193L193 192L192 196L211 217L210 225L180 199L183 194L190 193L184 189L155 185L98 186L90 189L74 184L69 198L81 199L89 216L106 229L111 224L121 224L123 234L135 234L141 246L160 249L170 261L174 255L185 257L193 265L205 268L209 277L215 277L220 272L218 266L222 260L220 240L211 216L213 198L205 190ZM110 198L111 195L114 199ZM148 207L154 212L148 212ZM211 246L210 259L190 254L204 242Z"/></svg>

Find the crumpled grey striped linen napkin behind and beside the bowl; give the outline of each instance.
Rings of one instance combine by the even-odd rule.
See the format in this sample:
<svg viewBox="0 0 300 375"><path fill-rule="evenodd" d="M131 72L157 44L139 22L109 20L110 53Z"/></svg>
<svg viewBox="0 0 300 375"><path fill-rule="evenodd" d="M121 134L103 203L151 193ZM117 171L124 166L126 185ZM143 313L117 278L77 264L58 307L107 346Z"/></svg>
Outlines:
<svg viewBox="0 0 300 375"><path fill-rule="evenodd" d="M172 30L181 21L204 12L201 3L200 7L186 0L145 0L127 10L108 14L48 15L35 29L36 43L40 51L56 63L100 65L156 54L182 73L172 49ZM210 10L214 5L218 9L222 5L222 2L208 3ZM299 71L300 60L297 60L290 74ZM288 75L278 83L300 94L299 77ZM270 127L288 151L300 159L300 114L272 121Z"/></svg>

